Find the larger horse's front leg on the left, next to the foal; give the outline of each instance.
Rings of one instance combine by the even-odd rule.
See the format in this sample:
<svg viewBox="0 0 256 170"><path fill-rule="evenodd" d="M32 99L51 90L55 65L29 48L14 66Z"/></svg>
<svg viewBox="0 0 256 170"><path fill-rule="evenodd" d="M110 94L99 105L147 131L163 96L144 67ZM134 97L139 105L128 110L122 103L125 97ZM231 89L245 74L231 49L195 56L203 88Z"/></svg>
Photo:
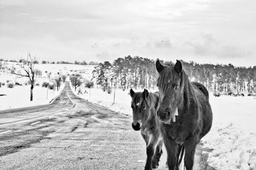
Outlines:
<svg viewBox="0 0 256 170"><path fill-rule="evenodd" d="M167 164L170 170L179 170L177 163L177 152L179 145L173 139L164 139L164 145L167 152Z"/></svg>

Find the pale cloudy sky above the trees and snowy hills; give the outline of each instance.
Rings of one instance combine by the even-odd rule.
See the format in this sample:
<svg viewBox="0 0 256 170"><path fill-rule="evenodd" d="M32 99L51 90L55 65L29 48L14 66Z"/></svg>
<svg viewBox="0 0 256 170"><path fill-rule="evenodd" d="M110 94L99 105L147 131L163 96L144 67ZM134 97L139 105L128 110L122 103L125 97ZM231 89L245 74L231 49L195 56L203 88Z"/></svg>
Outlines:
<svg viewBox="0 0 256 170"><path fill-rule="evenodd" d="M256 1L1 0L0 58L256 66Z"/></svg>

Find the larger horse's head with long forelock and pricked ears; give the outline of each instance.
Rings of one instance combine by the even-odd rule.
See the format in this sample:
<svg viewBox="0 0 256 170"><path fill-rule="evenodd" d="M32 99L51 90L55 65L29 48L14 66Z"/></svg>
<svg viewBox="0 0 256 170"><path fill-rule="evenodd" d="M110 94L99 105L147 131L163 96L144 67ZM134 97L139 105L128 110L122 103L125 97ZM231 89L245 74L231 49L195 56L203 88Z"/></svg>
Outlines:
<svg viewBox="0 0 256 170"><path fill-rule="evenodd" d="M175 66L164 66L157 60L156 69L159 73L157 87L159 88L159 107L157 116L159 119L170 124L171 119L175 122L178 115L178 106L182 97L182 64L177 60Z"/></svg>

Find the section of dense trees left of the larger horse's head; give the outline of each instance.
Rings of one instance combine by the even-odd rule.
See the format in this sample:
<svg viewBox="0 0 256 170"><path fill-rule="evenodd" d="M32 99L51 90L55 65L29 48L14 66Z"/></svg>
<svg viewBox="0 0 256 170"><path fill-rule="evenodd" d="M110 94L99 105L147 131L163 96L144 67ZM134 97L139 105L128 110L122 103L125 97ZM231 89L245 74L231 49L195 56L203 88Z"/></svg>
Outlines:
<svg viewBox="0 0 256 170"><path fill-rule="evenodd" d="M108 87L124 90L130 87L154 89L157 78L154 63L155 61L151 59L129 55L116 59L112 64L105 61L95 66L93 78L103 89Z"/></svg>

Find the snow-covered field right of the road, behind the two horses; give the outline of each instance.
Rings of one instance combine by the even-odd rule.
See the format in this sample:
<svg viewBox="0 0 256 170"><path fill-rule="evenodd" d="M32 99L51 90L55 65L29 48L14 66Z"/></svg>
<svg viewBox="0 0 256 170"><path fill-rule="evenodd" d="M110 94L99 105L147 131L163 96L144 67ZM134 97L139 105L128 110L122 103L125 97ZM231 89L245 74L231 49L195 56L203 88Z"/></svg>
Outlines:
<svg viewBox="0 0 256 170"><path fill-rule="evenodd" d="M116 90L113 95L102 89L89 89L79 96L111 110L132 116L129 90ZM137 90L140 91L140 90ZM151 90L154 92L156 90ZM209 152L209 165L216 169L256 169L256 99L255 97L214 97L212 129L202 139ZM248 165L250 164L250 166Z"/></svg>

